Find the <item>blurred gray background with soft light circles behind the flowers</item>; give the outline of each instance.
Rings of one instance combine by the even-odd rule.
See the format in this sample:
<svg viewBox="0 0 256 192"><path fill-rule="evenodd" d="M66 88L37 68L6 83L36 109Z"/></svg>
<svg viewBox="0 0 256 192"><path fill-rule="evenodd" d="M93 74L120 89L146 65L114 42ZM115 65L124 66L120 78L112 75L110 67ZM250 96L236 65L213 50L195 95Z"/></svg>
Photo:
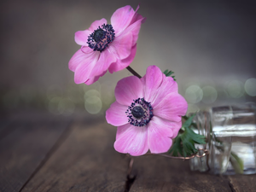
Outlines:
<svg viewBox="0 0 256 192"><path fill-rule="evenodd" d="M147 17L131 67L175 72L189 112L256 102L256 1L1 1L1 111L47 109L104 113L126 70L96 84L74 84L68 61L80 48L74 32L140 3Z"/></svg>

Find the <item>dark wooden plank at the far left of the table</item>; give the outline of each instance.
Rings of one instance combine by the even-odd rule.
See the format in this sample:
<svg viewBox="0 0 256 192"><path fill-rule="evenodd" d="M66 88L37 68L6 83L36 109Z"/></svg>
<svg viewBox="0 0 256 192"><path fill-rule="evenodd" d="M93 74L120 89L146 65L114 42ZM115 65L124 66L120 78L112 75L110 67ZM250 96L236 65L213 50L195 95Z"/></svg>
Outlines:
<svg viewBox="0 0 256 192"><path fill-rule="evenodd" d="M0 140L0 191L19 191L66 128L67 121L15 119Z"/></svg>

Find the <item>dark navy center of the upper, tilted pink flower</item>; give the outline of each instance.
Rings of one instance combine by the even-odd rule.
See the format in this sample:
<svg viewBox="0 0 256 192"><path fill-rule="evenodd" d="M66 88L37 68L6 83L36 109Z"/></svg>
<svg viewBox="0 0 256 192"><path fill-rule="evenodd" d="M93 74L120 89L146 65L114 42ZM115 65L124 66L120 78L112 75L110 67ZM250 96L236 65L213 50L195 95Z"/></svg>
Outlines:
<svg viewBox="0 0 256 192"><path fill-rule="evenodd" d="M108 44L113 42L114 30L113 26L103 24L102 27L99 26L94 32L92 32L87 39L87 44L90 49L94 51L102 52L108 47Z"/></svg>

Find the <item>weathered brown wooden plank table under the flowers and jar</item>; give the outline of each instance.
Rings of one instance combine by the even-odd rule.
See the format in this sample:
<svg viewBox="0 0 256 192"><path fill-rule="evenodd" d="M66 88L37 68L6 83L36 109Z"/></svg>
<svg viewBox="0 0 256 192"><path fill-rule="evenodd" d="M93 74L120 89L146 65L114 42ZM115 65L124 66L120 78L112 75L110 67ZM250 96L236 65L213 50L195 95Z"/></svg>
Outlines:
<svg viewBox="0 0 256 192"><path fill-rule="evenodd" d="M104 115L40 111L2 114L0 191L256 191L256 175L191 172L189 162L129 158L113 149L116 128Z"/></svg>

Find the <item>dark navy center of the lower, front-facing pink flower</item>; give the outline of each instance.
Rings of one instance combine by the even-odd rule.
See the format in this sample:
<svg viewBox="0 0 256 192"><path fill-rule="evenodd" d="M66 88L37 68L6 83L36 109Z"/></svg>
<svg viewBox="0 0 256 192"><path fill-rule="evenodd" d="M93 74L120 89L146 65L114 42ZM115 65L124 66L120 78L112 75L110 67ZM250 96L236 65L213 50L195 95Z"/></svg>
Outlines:
<svg viewBox="0 0 256 192"><path fill-rule="evenodd" d="M128 117L128 122L134 126L148 125L154 116L150 102L146 102L144 98L133 100L125 113Z"/></svg>

